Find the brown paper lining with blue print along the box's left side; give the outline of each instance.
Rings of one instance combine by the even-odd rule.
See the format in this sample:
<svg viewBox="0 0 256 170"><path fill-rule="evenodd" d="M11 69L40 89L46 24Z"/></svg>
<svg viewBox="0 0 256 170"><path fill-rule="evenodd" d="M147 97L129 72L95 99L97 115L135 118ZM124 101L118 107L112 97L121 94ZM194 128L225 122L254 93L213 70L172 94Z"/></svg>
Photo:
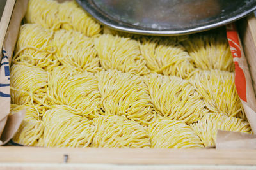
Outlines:
<svg viewBox="0 0 256 170"><path fill-rule="evenodd" d="M6 31L3 48L1 47L0 53L2 64L3 62L9 61L9 63L11 63L12 61L15 43L19 34L19 28L22 18L26 13L27 4L28 0L16 1L13 11L4 11L11 12L12 17ZM8 60L4 58L4 56L7 56ZM8 65L10 66L10 64L6 64L0 67L0 83L10 84L10 76L6 76L5 68L5 66ZM1 92L3 92L4 94L10 94L10 86L4 87L4 89L2 88ZM15 132L17 132L17 130L19 129L19 126L24 118L25 111L20 111L19 113L8 116L10 113L10 97L0 97L0 107L0 145L4 145L10 139L12 139Z"/></svg>

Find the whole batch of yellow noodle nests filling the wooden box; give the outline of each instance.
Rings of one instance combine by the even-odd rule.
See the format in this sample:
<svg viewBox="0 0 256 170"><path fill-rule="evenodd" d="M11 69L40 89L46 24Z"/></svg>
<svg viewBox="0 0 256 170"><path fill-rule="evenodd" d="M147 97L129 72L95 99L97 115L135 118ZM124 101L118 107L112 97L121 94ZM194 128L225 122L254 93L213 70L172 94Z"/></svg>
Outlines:
<svg viewBox="0 0 256 170"><path fill-rule="evenodd" d="M203 148L252 133L224 34L114 31L75 1L29 0L10 68L13 141L44 147Z"/></svg>

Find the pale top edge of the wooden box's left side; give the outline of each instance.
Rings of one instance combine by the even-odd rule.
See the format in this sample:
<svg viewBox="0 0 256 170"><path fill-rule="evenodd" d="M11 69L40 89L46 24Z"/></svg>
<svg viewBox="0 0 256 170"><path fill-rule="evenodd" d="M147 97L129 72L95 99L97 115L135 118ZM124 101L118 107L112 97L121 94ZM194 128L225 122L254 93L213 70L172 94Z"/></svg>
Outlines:
<svg viewBox="0 0 256 170"><path fill-rule="evenodd" d="M12 17L12 11L14 8L16 0L8 0L6 1L4 12L0 21L0 49L3 47L4 37L10 22L10 18Z"/></svg>

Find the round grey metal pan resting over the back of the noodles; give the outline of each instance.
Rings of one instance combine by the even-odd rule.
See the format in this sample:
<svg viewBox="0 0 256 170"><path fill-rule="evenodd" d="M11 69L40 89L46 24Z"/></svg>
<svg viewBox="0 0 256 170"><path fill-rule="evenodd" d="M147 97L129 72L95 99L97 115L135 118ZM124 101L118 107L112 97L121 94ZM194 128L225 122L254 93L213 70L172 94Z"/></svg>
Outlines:
<svg viewBox="0 0 256 170"><path fill-rule="evenodd" d="M181 35L234 22L256 9L256 0L76 0L100 23L118 31Z"/></svg>

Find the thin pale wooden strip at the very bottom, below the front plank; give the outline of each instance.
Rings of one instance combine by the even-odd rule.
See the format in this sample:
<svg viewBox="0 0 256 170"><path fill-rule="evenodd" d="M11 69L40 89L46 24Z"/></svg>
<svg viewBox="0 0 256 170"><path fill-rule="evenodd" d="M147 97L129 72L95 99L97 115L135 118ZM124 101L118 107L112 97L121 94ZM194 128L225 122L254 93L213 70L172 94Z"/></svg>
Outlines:
<svg viewBox="0 0 256 170"><path fill-rule="evenodd" d="M212 166L212 165L120 165L120 164L45 164L45 163L30 163L30 164L22 164L22 163L1 163L0 169L6 170L45 170L45 169L61 169L61 170L84 170L84 169L91 169L91 170L131 170L131 169L140 169L140 170L255 170L255 166L227 166L227 165L220 165L220 166Z"/></svg>

